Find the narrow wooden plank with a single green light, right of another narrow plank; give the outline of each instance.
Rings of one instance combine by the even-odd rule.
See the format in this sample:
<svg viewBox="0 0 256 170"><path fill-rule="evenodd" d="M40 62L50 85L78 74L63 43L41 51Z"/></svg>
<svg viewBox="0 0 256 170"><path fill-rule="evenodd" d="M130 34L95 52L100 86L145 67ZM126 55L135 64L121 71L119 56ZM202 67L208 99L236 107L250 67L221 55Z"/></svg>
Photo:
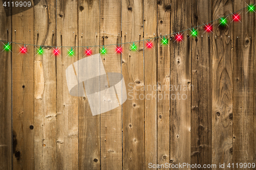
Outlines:
<svg viewBox="0 0 256 170"><path fill-rule="evenodd" d="M171 1L158 1L158 36L170 34ZM161 37L163 38L163 37ZM157 164L170 161L170 46L154 40L157 54ZM147 50L147 49L146 49ZM169 169L162 167L161 169Z"/></svg>

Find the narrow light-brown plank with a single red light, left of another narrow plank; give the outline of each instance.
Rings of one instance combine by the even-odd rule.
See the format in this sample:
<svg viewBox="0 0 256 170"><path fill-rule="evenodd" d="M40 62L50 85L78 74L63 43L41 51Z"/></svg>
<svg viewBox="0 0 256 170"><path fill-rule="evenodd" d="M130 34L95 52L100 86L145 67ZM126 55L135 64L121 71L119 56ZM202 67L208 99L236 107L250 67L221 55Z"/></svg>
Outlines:
<svg viewBox="0 0 256 170"><path fill-rule="evenodd" d="M144 39L157 36L157 1L144 1ZM156 40L155 40L156 41ZM144 44L145 169L157 163L157 46ZM156 168L153 168L156 169Z"/></svg>

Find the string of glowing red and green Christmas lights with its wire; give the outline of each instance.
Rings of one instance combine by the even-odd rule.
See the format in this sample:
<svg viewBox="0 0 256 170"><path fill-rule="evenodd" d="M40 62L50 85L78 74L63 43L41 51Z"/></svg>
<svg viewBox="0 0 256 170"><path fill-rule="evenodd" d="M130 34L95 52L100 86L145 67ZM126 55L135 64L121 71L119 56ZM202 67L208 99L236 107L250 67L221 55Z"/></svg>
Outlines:
<svg viewBox="0 0 256 170"><path fill-rule="evenodd" d="M223 17L220 17L218 19L215 19L215 20L212 20L210 22L207 22L207 23L203 23L202 25L200 26L196 26L196 27L193 27L193 28L190 28L190 29L186 29L186 30L183 30L183 31L179 31L179 32L176 32L176 33L172 33L172 34L167 34L167 35L163 35L163 36L158 36L158 37L153 37L153 38L149 38L149 39L143 39L143 40L139 40L139 41L132 41L132 42L124 42L124 43L119 43L119 44L108 44L108 45L91 45L91 46L49 46L49 45L46 45L47 47L52 47L53 48L53 55L55 56L58 56L61 54L60 52L60 48L61 47L65 47L65 48L71 48L70 50L67 49L67 56L69 57L74 57L75 56L75 48L77 47L83 47L84 48L84 56L91 56L93 55L93 52L92 52L92 47L99 47L99 53L101 55L106 55L108 53L108 50L107 50L107 47L108 46L111 46L111 45L114 45L116 47L116 53L118 54L122 54L122 45L123 44L127 44L129 43L130 44L130 51L137 51L138 52L138 43L140 41L145 41L145 48L154 48L154 44L153 44L153 41L154 39L156 38L161 38L161 44L160 45L168 45L168 42L169 42L169 37L167 36L170 36L170 35L175 35L175 41L174 42L183 42L183 34L185 31L190 31L190 37L198 37L198 29L199 27L203 26L204 27L204 33L207 32L207 33L214 33L213 32L213 28L212 28L212 25L214 21L219 21L219 26L221 27L226 27L228 26L228 16L229 15L232 15L232 21L231 22L241 22L241 19L240 19L240 14L238 14L239 11L243 10L243 9L246 9L247 8L247 12L250 12L250 13L256 13L255 12L255 5L256 3L254 4L246 4L247 7L245 8L242 8L236 12L233 12L233 13L230 13L226 16L223 16ZM242 22L241 22L242 23ZM204 34L203 33L203 34ZM8 42L8 41L4 41L4 40L0 40L2 43L3 43L3 51L2 52L12 52L11 51L11 44L21 44L22 46L19 46L19 54L28 54L27 53L27 46L28 45L31 45L31 46L35 46L36 49L37 49L37 54L36 55L44 55L44 45L35 45L35 44L23 44L23 43L16 43L16 42ZM39 48L37 48L37 46L39 46ZM1 53L2 53L1 52ZM116 54L115 53L115 54Z"/></svg>

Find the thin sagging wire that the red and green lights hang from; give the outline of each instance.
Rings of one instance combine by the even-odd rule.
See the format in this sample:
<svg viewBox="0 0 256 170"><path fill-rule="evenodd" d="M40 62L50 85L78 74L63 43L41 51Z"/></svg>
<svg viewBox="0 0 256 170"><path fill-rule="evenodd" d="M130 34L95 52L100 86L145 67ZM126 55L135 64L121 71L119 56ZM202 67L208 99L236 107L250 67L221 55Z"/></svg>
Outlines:
<svg viewBox="0 0 256 170"><path fill-rule="evenodd" d="M250 4L249 6L251 6L251 5L256 5L256 3L253 3L253 4ZM239 12L239 11L241 11L241 10L244 10L244 9L246 9L246 8L248 8L249 6L247 6L247 7L245 7L245 8L242 8L242 9L240 9L240 10L238 10L238 11L236 11L236 12L233 12L233 13L230 13L230 14L228 14L228 15L225 15L225 16L223 16L223 17L228 17L229 15L232 15L232 14L234 14L234 13L237 13L237 12ZM148 38L148 39L143 39L143 40L138 40L138 41L131 41L131 42L122 42L122 43L118 43L118 44L104 44L104 45L90 45L90 46L51 46L51 45L35 45L35 44L25 44L25 43L18 43L18 42L10 42L10 41L5 41L5 40L0 40L0 41L2 41L2 42L8 42L8 43L13 43L13 44L22 44L22 45L30 45L30 46L42 46L42 47L66 47L66 48L71 48L71 47L97 47L97 46L111 46L111 45L121 45L121 44L127 44L127 43L135 43L135 42L141 42L141 41L149 41L149 40L151 40L151 39L157 39L157 38L161 38L161 37L165 37L165 36L168 36L168 35L174 35L174 34L179 34L179 33L181 33L181 32L185 32L185 31L188 31L188 30L192 30L192 29L195 29L195 28L198 28L198 27L201 27L201 26L204 26L204 25L207 25L208 23L211 23L211 22L214 22L214 21L217 21L217 20L219 20L220 18L218 18L218 19L215 19L215 20L212 20L212 21L209 21L209 22L207 22L207 23L203 23L202 25L199 25L199 26L196 26L196 27L192 27L192 28L189 28L189 29L186 29L186 30L182 30L182 31L179 31L179 32L176 32L176 33L171 33L171 34L166 34L166 35L162 35L162 36L158 36L158 37L153 37L153 38Z"/></svg>

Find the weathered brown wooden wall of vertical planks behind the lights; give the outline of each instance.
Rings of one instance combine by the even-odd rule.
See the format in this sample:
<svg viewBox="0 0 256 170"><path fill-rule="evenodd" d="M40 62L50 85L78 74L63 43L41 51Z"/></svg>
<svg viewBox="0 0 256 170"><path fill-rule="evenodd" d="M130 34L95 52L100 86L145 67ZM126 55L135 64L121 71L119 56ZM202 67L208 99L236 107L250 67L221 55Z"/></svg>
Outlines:
<svg viewBox="0 0 256 170"><path fill-rule="evenodd" d="M36 48L28 46L28 55L18 55L17 44L12 44L12 53L0 54L0 169L256 163L255 13L242 10L242 23L229 22L225 28L214 22L214 34L202 34L200 27L199 37L188 39L186 31L182 43L174 42L173 35L170 46L155 39L154 50L144 50L143 41L135 53L129 44L123 45L123 55L113 55L115 47L108 47L108 56L101 57L106 72L121 72L126 88L131 83L140 89L134 95L151 100L127 100L97 116L92 116L87 98L69 94L66 83L66 68L83 58L84 49L76 48L75 57L69 58L66 48L61 48L62 57L54 57L48 47L153 38L255 2L41 0L9 17L2 6L0 39L45 45L45 54L36 55ZM147 85L158 88L141 90ZM168 85L193 89L161 88ZM187 99L154 98L179 93Z"/></svg>

